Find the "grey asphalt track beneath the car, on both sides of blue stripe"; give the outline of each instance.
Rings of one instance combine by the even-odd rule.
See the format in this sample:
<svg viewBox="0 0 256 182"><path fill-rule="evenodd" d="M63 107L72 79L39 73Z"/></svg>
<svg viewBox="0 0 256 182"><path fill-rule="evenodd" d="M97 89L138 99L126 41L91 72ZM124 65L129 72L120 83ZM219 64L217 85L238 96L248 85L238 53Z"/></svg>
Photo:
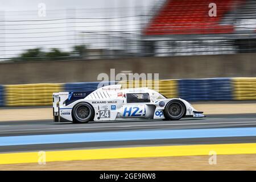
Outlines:
<svg viewBox="0 0 256 182"><path fill-rule="evenodd" d="M184 118L180 121L115 121L73 124L42 121L0 122L0 137L54 135L119 131L150 130L191 130L191 129L235 129L256 127L256 114L208 115L206 118ZM256 136L256 134L255 134ZM67 150L81 148L109 148L129 146L164 146L184 144L221 144L221 143L256 143L255 136L247 137L212 137L212 138L175 138L151 140L122 140L104 142L76 142L55 144L26 144L0 146L0 152Z"/></svg>

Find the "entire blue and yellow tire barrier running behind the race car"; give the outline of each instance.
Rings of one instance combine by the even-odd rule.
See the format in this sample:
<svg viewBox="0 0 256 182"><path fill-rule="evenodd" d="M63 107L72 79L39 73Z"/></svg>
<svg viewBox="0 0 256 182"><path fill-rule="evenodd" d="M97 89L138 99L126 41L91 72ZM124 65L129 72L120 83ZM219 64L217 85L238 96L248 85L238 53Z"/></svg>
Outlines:
<svg viewBox="0 0 256 182"><path fill-rule="evenodd" d="M101 83L101 85L99 85ZM75 82L66 84L0 85L0 106L52 105L53 92L81 92L98 86L122 84L122 88L147 87L167 98L188 101L256 100L255 78L207 78L119 82Z"/></svg>

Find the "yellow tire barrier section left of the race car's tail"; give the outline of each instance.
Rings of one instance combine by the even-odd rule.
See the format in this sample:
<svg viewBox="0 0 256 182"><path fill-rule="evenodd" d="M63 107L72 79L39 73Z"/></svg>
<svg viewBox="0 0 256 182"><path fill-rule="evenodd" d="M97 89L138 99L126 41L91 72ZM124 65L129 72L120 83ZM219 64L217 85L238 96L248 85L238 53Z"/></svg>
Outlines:
<svg viewBox="0 0 256 182"><path fill-rule="evenodd" d="M6 106L52 105L52 93L62 92L63 84L5 85Z"/></svg>

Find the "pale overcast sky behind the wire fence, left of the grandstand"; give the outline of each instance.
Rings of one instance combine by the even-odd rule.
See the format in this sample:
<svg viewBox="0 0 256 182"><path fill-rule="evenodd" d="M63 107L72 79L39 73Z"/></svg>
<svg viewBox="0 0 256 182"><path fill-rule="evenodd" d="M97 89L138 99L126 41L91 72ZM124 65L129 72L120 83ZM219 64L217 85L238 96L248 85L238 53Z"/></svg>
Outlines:
<svg viewBox="0 0 256 182"><path fill-rule="evenodd" d="M97 43L104 42L102 35L94 40L95 35L80 33L138 30L141 25L137 16L148 14L159 1L164 0L0 0L0 60L36 47L70 51L72 46L81 43L92 48L108 46ZM46 5L46 16L38 15L40 3ZM129 17L104 22L104 18L122 16ZM61 18L96 19L43 21Z"/></svg>

